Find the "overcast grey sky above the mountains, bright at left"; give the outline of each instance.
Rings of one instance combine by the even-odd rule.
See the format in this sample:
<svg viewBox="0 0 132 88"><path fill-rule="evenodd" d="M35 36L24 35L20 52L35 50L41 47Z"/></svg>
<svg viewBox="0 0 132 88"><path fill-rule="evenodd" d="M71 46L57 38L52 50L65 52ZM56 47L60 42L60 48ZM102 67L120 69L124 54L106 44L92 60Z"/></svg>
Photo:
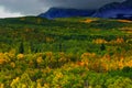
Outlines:
<svg viewBox="0 0 132 88"><path fill-rule="evenodd" d="M52 7L96 9L124 0L0 0L0 18L37 15Z"/></svg>

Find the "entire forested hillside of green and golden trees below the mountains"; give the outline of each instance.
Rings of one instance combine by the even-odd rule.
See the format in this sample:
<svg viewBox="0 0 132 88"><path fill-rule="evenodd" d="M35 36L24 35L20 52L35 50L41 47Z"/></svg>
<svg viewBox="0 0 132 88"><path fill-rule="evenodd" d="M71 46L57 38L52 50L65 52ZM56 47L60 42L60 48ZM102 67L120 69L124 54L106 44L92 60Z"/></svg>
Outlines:
<svg viewBox="0 0 132 88"><path fill-rule="evenodd" d="M0 88L132 88L132 22L0 19Z"/></svg>

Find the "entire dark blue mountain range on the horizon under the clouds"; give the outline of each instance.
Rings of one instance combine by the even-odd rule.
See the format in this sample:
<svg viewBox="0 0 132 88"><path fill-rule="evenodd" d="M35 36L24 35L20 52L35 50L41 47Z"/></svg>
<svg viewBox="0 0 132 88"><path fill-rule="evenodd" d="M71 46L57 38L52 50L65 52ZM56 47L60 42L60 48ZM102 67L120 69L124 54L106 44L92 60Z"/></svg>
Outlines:
<svg viewBox="0 0 132 88"><path fill-rule="evenodd" d="M47 12L41 13L38 16L47 19L92 16L132 20L132 0L108 3L97 10L51 8Z"/></svg>

